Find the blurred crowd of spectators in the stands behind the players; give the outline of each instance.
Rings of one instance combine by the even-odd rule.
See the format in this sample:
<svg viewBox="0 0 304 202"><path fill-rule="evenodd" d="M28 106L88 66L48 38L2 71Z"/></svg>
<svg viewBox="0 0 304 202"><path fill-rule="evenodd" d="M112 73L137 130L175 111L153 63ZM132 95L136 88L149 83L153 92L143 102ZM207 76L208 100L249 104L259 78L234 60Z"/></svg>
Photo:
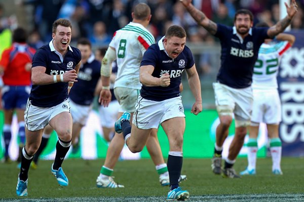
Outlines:
<svg viewBox="0 0 304 202"><path fill-rule="evenodd" d="M132 21L131 13L138 3L146 3L151 8L152 18L148 29L156 41L165 34L168 26L176 24L185 28L188 42L204 42L211 46L217 42L202 26L197 25L179 0L15 0L13 5L24 8L24 12L22 15L11 13L5 16L4 10L9 2L5 1L0 6L1 30L14 29L20 18L26 18L25 28L30 32L28 42L34 48L51 40L52 23L57 18L72 22L72 44L80 37L86 37L92 42L93 49L105 47L116 30ZM298 13L291 29L304 28L304 0L297 2ZM280 19L279 0L193 0L193 4L214 22L225 25L233 25L234 14L241 8L252 11L255 23L263 21L271 26ZM200 75L210 72L210 66L218 62L212 61L212 58L208 53L196 57Z"/></svg>

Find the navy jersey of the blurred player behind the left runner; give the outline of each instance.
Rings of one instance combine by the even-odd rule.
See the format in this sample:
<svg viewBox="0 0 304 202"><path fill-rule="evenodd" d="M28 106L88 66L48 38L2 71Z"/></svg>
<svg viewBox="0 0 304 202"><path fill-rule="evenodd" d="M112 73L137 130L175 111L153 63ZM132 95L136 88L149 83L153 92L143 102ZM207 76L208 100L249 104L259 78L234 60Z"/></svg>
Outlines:
<svg viewBox="0 0 304 202"><path fill-rule="evenodd" d="M91 105L94 98L96 84L100 78L99 61L95 60L94 55L82 64L78 73L78 82L74 82L68 96L78 105Z"/></svg>

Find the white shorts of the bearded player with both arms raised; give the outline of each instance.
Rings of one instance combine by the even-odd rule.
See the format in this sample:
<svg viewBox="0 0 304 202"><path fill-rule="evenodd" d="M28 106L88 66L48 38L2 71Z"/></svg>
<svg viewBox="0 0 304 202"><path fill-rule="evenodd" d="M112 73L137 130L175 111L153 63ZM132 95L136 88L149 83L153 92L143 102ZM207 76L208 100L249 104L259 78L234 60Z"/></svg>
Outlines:
<svg viewBox="0 0 304 202"><path fill-rule="evenodd" d="M219 115L235 115L236 127L248 126L252 112L252 88L232 88L221 83L213 83L215 105Z"/></svg>

